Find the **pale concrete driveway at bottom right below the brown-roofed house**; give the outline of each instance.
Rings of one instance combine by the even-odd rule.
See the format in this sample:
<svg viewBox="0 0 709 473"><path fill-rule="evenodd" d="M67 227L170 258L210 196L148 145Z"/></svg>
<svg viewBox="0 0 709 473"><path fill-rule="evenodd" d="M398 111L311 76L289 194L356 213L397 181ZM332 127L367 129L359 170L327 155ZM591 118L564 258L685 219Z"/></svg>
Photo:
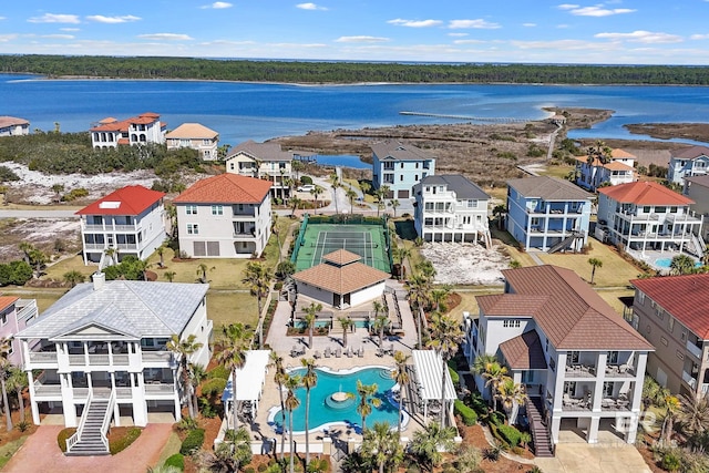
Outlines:
<svg viewBox="0 0 709 473"><path fill-rule="evenodd" d="M558 443L553 459L535 459L544 473L651 473L640 452L627 443Z"/></svg>

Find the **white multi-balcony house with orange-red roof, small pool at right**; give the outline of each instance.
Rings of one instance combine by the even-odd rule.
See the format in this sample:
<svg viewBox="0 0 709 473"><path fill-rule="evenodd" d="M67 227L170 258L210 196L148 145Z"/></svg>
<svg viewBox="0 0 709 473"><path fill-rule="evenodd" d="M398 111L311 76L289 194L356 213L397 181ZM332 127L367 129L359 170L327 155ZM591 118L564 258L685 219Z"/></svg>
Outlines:
<svg viewBox="0 0 709 473"><path fill-rule="evenodd" d="M687 250L701 257L701 216L690 210L695 202L660 184L636 182L598 191L598 225L604 240L619 245L636 259L646 251Z"/></svg>

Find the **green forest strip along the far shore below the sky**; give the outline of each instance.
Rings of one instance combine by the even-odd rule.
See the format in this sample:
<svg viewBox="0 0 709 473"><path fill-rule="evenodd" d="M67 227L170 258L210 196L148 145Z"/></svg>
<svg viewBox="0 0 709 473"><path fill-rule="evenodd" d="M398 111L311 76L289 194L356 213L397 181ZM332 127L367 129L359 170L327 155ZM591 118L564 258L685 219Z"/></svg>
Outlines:
<svg viewBox="0 0 709 473"><path fill-rule="evenodd" d="M284 83L709 84L709 68L684 65L403 64L0 55L0 72L32 73L50 78L195 79Z"/></svg>

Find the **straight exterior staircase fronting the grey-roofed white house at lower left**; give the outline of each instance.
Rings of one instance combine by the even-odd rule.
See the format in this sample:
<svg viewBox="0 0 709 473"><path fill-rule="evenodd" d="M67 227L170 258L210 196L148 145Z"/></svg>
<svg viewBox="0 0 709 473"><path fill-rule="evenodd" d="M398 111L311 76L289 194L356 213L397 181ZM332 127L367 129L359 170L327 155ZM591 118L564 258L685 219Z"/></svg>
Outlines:
<svg viewBox="0 0 709 473"><path fill-rule="evenodd" d="M102 395L103 394L103 395ZM66 456L110 455L109 424L113 414L115 395L94 394L91 390L76 433L66 440Z"/></svg>

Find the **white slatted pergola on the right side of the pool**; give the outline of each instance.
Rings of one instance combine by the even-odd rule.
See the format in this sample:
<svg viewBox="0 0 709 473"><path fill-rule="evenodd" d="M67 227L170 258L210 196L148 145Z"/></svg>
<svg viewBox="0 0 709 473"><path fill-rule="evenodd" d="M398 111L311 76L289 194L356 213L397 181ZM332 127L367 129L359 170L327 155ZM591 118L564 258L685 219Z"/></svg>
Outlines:
<svg viewBox="0 0 709 473"><path fill-rule="evenodd" d="M415 384L419 399L423 401L423 419L428 418L429 402L441 400L441 374L445 376L445 399L446 405L441 409L449 409L449 415L453 414L453 401L458 399L451 373L443 368L443 359L435 350L411 350L413 367L415 369Z"/></svg>

